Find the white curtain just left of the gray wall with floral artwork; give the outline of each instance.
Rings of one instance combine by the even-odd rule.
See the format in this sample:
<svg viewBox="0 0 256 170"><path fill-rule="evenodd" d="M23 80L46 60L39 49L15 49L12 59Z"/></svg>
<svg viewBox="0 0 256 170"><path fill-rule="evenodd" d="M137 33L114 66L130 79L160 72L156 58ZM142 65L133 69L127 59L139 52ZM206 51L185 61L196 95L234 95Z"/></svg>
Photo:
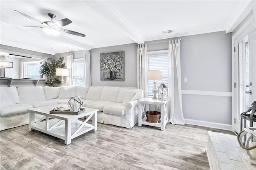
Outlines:
<svg viewBox="0 0 256 170"><path fill-rule="evenodd" d="M91 86L91 61L90 51L84 51L84 86Z"/></svg>

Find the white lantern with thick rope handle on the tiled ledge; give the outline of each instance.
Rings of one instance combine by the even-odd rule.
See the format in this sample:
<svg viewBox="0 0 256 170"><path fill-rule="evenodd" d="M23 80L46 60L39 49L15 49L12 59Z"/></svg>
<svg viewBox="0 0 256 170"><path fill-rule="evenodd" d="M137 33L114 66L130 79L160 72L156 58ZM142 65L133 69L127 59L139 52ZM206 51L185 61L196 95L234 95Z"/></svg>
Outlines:
<svg viewBox="0 0 256 170"><path fill-rule="evenodd" d="M243 141L243 138L245 141ZM237 135L237 140L241 148L246 150L244 157L252 163L256 164L256 128L246 127Z"/></svg>

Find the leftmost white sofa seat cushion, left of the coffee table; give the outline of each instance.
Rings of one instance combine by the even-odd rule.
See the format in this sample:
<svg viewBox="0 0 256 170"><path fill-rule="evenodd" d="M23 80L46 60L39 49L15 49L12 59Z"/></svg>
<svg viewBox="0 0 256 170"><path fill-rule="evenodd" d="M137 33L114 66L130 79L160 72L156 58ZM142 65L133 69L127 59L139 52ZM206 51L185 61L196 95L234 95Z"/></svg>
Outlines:
<svg viewBox="0 0 256 170"><path fill-rule="evenodd" d="M32 108L33 108L32 105L29 105L26 103L8 105L5 107L1 107L0 117L7 117L7 116L12 116L12 115L28 113L28 109L32 109Z"/></svg>

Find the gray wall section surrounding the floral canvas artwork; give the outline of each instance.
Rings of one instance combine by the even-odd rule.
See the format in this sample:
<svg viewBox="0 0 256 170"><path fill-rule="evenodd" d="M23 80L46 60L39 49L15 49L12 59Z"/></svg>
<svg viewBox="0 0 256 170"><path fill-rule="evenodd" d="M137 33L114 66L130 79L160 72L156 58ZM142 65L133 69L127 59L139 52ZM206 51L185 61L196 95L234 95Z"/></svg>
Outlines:
<svg viewBox="0 0 256 170"><path fill-rule="evenodd" d="M100 53L124 51L124 81L100 81ZM137 87L136 43L91 49L92 85Z"/></svg>

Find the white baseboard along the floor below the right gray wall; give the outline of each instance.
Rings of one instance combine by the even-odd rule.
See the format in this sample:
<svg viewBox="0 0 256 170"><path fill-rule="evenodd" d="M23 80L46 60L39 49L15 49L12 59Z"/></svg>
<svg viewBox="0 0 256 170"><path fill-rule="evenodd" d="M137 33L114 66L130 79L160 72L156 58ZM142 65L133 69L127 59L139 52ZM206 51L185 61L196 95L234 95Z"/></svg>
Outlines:
<svg viewBox="0 0 256 170"><path fill-rule="evenodd" d="M224 124L224 123L198 121L198 120L194 120L194 119L185 119L185 123L189 124L189 125L198 125L198 126L202 126L202 127L218 128L218 129L232 131L232 125L228 125L228 124Z"/></svg>

